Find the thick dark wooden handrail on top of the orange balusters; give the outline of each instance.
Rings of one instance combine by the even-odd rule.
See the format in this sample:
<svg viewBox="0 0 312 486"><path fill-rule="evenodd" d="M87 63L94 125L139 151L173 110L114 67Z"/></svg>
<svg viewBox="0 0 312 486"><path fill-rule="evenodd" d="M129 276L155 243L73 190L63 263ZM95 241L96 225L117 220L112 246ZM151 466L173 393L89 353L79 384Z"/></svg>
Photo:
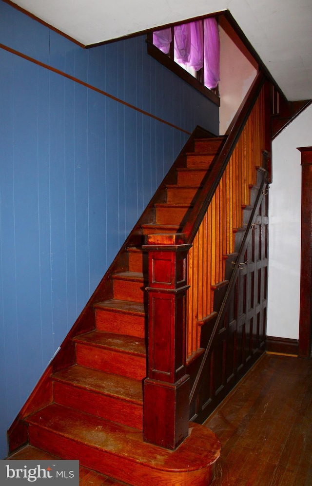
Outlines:
<svg viewBox="0 0 312 486"><path fill-rule="evenodd" d="M260 72L249 91L249 94L242 103L241 109L237 113L232 129L227 137L219 155L217 156L212 169L207 173L203 180L202 191L196 200L192 213L186 222L183 233L186 235L186 242L192 243L199 226L205 216L207 208L212 201L216 188L226 169L228 161L234 151L237 140L247 122L247 119L254 107L254 103L265 82L265 75Z"/></svg>

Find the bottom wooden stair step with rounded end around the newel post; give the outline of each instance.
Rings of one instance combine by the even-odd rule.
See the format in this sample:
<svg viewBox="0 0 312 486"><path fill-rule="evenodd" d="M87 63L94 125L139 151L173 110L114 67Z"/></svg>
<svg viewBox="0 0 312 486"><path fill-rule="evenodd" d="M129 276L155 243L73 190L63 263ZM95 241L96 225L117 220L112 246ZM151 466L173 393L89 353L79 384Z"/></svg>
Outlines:
<svg viewBox="0 0 312 486"><path fill-rule="evenodd" d="M142 432L57 404L26 419L29 443L132 486L207 486L220 443L208 428L190 422L175 451L143 442Z"/></svg>

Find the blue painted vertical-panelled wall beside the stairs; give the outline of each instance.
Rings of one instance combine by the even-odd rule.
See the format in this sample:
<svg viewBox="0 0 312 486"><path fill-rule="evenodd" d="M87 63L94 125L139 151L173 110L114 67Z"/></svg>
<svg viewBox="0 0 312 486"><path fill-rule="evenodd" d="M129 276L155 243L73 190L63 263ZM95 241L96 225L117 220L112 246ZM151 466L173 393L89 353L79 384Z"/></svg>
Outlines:
<svg viewBox="0 0 312 486"><path fill-rule="evenodd" d="M38 382L195 126L218 109L146 53L93 49L0 1L0 457ZM58 69L162 121L48 69Z"/></svg>

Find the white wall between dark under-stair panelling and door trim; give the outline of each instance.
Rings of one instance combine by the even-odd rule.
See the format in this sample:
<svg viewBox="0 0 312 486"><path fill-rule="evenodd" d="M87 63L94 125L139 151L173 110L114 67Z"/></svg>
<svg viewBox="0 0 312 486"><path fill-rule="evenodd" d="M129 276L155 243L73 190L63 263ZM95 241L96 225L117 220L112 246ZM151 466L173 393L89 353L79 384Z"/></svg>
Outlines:
<svg viewBox="0 0 312 486"><path fill-rule="evenodd" d="M312 146L312 106L273 140L267 335L298 339L301 153Z"/></svg>

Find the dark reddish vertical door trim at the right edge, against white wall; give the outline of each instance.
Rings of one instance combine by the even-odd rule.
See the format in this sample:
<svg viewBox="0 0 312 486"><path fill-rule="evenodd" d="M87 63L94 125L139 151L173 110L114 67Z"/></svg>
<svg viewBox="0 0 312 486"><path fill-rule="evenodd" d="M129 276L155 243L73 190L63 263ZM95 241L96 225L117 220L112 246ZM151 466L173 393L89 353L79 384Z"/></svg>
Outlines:
<svg viewBox="0 0 312 486"><path fill-rule="evenodd" d="M312 334L312 147L298 147L301 152L301 274L299 356L311 355Z"/></svg>

